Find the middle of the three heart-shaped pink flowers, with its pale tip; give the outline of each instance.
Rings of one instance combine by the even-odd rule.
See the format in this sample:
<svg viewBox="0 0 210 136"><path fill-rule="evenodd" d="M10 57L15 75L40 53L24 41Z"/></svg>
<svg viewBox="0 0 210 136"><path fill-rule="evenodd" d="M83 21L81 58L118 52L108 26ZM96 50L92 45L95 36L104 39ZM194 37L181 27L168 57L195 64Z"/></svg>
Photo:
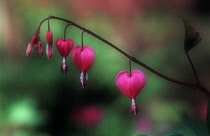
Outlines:
<svg viewBox="0 0 210 136"><path fill-rule="evenodd" d="M94 62L95 53L90 46L75 46L72 50L72 59L76 66L81 71L80 82L82 87L87 86L88 74L87 71L90 69Z"/></svg>

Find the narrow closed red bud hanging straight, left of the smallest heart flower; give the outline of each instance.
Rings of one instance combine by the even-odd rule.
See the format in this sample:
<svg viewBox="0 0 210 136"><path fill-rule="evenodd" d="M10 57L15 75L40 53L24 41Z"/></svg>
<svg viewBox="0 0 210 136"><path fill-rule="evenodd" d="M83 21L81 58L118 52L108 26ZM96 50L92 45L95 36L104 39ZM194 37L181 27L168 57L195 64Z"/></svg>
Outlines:
<svg viewBox="0 0 210 136"><path fill-rule="evenodd" d="M48 30L46 33L46 54L47 54L47 58L50 59L53 55L53 33L52 31Z"/></svg>

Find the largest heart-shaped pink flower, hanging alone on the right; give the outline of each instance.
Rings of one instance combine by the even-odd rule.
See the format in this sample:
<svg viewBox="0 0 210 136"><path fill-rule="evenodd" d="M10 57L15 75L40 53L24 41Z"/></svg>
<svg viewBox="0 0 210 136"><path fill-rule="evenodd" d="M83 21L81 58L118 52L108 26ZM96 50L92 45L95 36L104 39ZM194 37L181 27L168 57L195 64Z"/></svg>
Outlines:
<svg viewBox="0 0 210 136"><path fill-rule="evenodd" d="M138 105L135 97L140 93L146 83L146 76L140 70L133 70L131 73L122 70L116 76L116 84L119 90L131 99L131 112L136 115Z"/></svg>

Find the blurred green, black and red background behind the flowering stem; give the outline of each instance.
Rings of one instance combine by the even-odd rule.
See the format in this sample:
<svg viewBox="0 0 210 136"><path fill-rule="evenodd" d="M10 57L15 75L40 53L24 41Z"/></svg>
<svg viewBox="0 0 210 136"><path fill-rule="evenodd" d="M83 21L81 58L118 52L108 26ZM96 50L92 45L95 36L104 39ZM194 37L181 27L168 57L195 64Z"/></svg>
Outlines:
<svg viewBox="0 0 210 136"><path fill-rule="evenodd" d="M186 120L205 123L207 98L198 90L170 83L132 63L147 75L137 97L139 114L115 85L115 76L129 70L128 59L96 38L84 44L96 58L83 89L80 72L67 58L52 59L25 49L41 20L54 15L92 30L160 73L195 82L183 49L184 28L177 16L191 20L202 42L190 51L201 82L210 89L210 7L199 0L2 0L0 4L0 135L1 136L149 136L162 135ZM51 20L54 41L66 23ZM45 45L47 23L41 27ZM67 37L81 45L81 30L70 26Z"/></svg>

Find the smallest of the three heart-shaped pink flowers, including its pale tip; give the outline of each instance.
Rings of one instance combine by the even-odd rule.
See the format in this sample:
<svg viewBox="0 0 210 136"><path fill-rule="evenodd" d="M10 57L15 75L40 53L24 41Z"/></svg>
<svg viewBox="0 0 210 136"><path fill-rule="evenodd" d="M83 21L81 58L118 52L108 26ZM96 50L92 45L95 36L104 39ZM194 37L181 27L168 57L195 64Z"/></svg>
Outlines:
<svg viewBox="0 0 210 136"><path fill-rule="evenodd" d="M66 39L59 38L56 41L57 50L60 53L61 57L63 58L62 63L61 63L61 71L63 73L66 73L68 71L66 57L69 55L73 46L74 46L74 41L70 38L66 38Z"/></svg>

